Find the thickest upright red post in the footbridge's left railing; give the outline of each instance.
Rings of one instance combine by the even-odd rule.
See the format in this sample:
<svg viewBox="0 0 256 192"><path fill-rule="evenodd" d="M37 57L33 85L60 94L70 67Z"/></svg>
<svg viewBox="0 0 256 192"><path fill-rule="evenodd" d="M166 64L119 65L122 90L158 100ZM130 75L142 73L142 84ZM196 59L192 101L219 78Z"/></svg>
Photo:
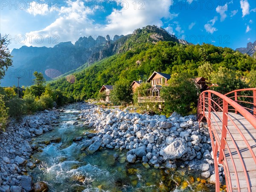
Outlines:
<svg viewBox="0 0 256 192"><path fill-rule="evenodd" d="M223 99L223 119L222 119L222 132L221 132L221 148L219 154L219 163L223 163L224 154L223 151L226 145L226 137L227 137L227 114L228 113L228 103Z"/></svg>

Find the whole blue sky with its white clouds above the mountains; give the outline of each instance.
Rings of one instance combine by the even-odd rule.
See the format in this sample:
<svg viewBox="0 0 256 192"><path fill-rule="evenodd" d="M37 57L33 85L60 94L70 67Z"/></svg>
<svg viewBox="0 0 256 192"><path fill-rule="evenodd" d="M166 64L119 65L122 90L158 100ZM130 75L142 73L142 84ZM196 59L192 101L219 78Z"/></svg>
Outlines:
<svg viewBox="0 0 256 192"><path fill-rule="evenodd" d="M246 47L256 40L255 0L0 0L10 49L53 47L81 36L127 35L157 25L193 44Z"/></svg>

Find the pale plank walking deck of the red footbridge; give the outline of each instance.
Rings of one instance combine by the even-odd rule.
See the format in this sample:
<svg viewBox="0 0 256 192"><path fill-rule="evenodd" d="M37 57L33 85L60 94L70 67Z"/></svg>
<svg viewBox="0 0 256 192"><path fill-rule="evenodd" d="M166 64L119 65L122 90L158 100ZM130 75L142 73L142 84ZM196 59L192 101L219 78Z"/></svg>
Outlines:
<svg viewBox="0 0 256 192"><path fill-rule="evenodd" d="M208 112L205 112L205 113L206 113L206 116L208 116ZM253 128L253 126L243 116L236 113L230 113L230 112L228 114L230 118L238 126L239 130L244 135L247 142L253 149L253 153L256 155L256 129ZM212 122L212 125L215 127L219 138L221 138L220 130L222 130L222 119L223 119L222 112L211 112L211 122ZM218 126L220 129L218 128ZM226 145L228 145L230 148L230 151L236 166L236 171L239 177L240 190L241 192L248 191L244 170L242 167L242 163L239 159L239 154L236 151L236 147L239 149L242 160L244 161L245 168L247 170L247 175L250 182L250 190L251 192L256 192L256 163L253 160L252 154L248 150L246 143L244 142L241 135L239 134L239 132L237 131L236 127L233 125L230 119L228 119L227 128L230 131L230 134L232 135L233 140L235 141L235 143L233 143L231 136L227 133ZM228 167L228 170L230 172L230 178L227 178L227 179L231 180L232 191L239 191L239 189L237 188L238 183L236 180L236 171L234 170L232 159L230 157L230 153L227 147L225 147L224 152L225 152L225 156L228 164L226 166L224 163L224 166Z"/></svg>

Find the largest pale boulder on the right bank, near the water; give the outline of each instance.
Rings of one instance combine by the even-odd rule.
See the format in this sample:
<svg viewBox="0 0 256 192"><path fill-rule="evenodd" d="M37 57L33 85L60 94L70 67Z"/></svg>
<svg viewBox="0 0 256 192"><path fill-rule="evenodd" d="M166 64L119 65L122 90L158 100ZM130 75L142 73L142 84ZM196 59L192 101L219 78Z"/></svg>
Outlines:
<svg viewBox="0 0 256 192"><path fill-rule="evenodd" d="M175 140L163 150L163 159L179 159L186 151L186 144L181 140Z"/></svg>

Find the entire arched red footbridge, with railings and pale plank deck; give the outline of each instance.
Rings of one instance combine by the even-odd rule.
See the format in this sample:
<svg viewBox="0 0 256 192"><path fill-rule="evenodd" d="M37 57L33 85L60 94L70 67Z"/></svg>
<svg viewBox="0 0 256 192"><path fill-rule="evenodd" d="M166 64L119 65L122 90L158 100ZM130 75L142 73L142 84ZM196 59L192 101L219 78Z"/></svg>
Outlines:
<svg viewBox="0 0 256 192"><path fill-rule="evenodd" d="M214 156L216 192L218 164L224 168L227 192L256 192L256 88L222 95L201 93L198 120L207 121Z"/></svg>

